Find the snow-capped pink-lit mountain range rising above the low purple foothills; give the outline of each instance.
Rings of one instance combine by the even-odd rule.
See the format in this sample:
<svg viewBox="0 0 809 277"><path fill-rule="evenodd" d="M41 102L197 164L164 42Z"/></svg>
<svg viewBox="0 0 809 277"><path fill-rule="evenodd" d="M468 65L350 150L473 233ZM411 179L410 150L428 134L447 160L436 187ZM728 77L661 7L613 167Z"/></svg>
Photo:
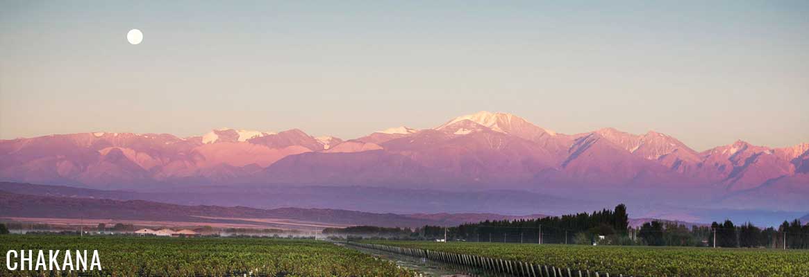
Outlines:
<svg viewBox="0 0 809 277"><path fill-rule="evenodd" d="M603 128L566 135L488 111L436 128L389 128L346 141L298 129L227 128L184 138L95 132L0 141L0 180L6 181L132 189L362 185L568 195L592 189L620 191L616 196L700 195L716 203L755 199L771 208L781 207L779 199L809 198L807 161L807 144L769 148L736 141L698 153L659 132L634 135ZM788 206L809 210L809 204Z"/></svg>

